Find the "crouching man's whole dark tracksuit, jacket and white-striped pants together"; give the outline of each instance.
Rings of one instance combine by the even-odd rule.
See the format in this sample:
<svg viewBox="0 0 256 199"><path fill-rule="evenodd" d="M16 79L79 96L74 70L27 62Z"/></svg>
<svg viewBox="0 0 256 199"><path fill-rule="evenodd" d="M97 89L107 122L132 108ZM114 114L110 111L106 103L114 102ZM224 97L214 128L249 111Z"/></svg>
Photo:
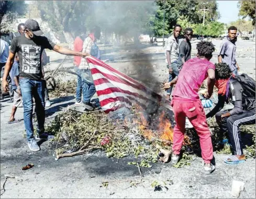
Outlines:
<svg viewBox="0 0 256 199"><path fill-rule="evenodd" d="M225 101L231 101L235 106L232 110L220 111L225 104ZM221 115L230 112L228 118L222 118ZM255 98L246 96L243 92L241 84L231 79L229 83L229 95L218 96L218 103L206 117L216 117L216 121L223 132L228 132L229 143L232 145L233 154L242 155L242 141L240 134L240 125L255 124Z"/></svg>

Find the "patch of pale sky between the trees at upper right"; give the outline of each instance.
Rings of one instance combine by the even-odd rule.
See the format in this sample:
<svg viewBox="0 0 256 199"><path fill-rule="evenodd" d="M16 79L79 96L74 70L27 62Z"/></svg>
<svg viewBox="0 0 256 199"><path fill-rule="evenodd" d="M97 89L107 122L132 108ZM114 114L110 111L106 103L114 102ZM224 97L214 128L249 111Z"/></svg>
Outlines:
<svg viewBox="0 0 256 199"><path fill-rule="evenodd" d="M217 3L220 12L220 22L229 24L231 21L236 21L239 18L238 1L217 1Z"/></svg>

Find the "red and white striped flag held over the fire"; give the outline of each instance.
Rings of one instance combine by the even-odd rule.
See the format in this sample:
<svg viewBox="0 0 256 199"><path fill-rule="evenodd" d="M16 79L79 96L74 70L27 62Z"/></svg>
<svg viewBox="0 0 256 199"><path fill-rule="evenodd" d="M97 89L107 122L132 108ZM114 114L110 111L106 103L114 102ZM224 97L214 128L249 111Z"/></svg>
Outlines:
<svg viewBox="0 0 256 199"><path fill-rule="evenodd" d="M104 112L108 113L121 107L131 108L135 104L146 109L150 103L161 101L160 95L97 58L87 56L86 61L90 66L99 103Z"/></svg>

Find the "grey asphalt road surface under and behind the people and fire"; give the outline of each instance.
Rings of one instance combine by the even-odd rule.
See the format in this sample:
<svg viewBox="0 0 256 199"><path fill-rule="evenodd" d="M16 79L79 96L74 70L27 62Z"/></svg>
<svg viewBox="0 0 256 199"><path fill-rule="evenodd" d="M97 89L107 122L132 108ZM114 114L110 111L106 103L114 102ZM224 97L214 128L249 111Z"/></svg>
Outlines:
<svg viewBox="0 0 256 199"><path fill-rule="evenodd" d="M220 41L215 41L214 44L217 47ZM195 54L195 44L193 48L192 54ZM115 56L116 62L109 65L120 71L127 67L136 71L138 63L143 67L146 60L153 68L152 76L158 81L166 79L162 48L150 47L144 51L143 56L137 58L134 57L137 53L133 51L114 52L104 56ZM255 42L238 41L237 53L241 72L255 78ZM49 54L52 63L48 68L54 68L63 55L54 52ZM212 61L217 61L216 53ZM68 60L64 67L72 67L72 60ZM69 79L71 76L64 78ZM147 80L145 82L147 83ZM180 169L170 164L156 163L150 169L142 168L142 183L129 188L130 181L140 181L138 168L127 165L127 162L134 160L133 157L118 161L108 159L103 153L97 152L56 161L52 156L53 151L49 150L50 142L42 143L41 151L29 151L23 137L23 121L7 124L12 104L6 100L8 99L5 98L1 102L1 189L5 174L16 178L7 179L6 191L1 198L232 198L232 180L245 183L245 190L241 192L240 198L255 198L255 159L248 159L240 165L226 165L223 161L226 155L215 154L216 171L211 175L203 174L203 163L199 157L194 158L191 166ZM46 110L47 122L54 118L62 107L74 103L74 96L51 100L52 107ZM18 108L16 119L23 119L23 108ZM28 163L33 163L35 167L21 170ZM172 180L173 184L168 180ZM154 191L151 187L154 181L162 185L161 191ZM101 187L103 182L109 183L107 188Z"/></svg>

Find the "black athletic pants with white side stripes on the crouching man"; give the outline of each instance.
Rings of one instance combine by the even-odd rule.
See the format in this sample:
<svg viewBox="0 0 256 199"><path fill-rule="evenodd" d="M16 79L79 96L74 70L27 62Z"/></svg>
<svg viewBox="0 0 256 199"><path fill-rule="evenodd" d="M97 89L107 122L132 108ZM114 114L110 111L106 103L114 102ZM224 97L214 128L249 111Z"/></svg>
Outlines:
<svg viewBox="0 0 256 199"><path fill-rule="evenodd" d="M216 116L216 121L223 132L228 132L229 142L232 145L234 155L243 155L240 125L255 124L255 109L243 111L242 114L231 115L228 118L220 119L220 116L229 112L220 111Z"/></svg>

